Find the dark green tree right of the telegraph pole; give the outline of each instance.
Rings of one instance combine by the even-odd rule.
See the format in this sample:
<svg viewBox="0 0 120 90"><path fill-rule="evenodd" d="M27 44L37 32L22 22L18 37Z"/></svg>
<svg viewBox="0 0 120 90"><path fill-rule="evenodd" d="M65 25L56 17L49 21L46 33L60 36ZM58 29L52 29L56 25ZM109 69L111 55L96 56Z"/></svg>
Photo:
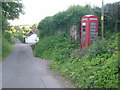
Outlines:
<svg viewBox="0 0 120 90"><path fill-rule="evenodd" d="M110 32L117 32L119 2L105 5L105 26Z"/></svg>

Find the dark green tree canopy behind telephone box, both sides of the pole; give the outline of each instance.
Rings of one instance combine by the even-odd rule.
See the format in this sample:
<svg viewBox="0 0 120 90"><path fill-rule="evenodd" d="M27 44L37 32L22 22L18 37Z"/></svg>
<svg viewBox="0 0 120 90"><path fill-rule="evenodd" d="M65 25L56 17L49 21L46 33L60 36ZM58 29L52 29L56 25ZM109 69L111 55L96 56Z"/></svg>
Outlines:
<svg viewBox="0 0 120 90"><path fill-rule="evenodd" d="M119 2L109 3L104 6L104 24L105 24L105 33L113 33L117 31L118 26L118 9ZM91 7L90 5L79 6L73 5L70 6L66 11L59 12L54 16L49 16L40 21L38 29L40 30L40 38L48 35L55 34L59 31L70 30L72 25L80 29L81 17L87 14L96 15L99 17L99 35L101 35L101 8L100 7Z"/></svg>

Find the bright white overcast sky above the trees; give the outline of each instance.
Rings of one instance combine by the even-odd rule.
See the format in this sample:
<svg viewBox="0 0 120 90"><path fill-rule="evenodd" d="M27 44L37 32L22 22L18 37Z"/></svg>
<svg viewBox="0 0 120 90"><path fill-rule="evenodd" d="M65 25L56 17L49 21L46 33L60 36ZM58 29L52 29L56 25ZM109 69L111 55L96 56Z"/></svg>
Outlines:
<svg viewBox="0 0 120 90"><path fill-rule="evenodd" d="M22 0L24 15L19 19L9 21L11 25L39 23L46 16L52 16L60 11L66 10L71 5L86 5L101 7L102 0ZM104 3L116 2L119 0L104 0Z"/></svg>

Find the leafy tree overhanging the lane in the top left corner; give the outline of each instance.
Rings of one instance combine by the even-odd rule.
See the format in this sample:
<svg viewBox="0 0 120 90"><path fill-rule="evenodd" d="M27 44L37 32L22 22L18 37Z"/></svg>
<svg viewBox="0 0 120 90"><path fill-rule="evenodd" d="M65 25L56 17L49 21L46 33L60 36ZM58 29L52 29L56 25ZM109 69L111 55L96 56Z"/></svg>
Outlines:
<svg viewBox="0 0 120 90"><path fill-rule="evenodd" d="M23 4L18 1L13 2L2 2L0 5L2 8L2 30L9 30L9 23L7 20L14 20L19 18L23 12Z"/></svg>

